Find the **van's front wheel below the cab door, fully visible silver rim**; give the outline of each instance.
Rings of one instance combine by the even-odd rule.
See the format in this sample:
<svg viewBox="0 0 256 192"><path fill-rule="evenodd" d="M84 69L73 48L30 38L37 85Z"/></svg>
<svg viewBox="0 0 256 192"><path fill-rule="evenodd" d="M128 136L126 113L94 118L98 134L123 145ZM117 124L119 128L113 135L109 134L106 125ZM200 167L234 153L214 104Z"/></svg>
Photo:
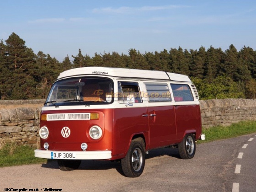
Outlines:
<svg viewBox="0 0 256 192"><path fill-rule="evenodd" d="M142 174L145 166L144 140L134 139L126 156L121 160L122 170L127 177L138 177Z"/></svg>

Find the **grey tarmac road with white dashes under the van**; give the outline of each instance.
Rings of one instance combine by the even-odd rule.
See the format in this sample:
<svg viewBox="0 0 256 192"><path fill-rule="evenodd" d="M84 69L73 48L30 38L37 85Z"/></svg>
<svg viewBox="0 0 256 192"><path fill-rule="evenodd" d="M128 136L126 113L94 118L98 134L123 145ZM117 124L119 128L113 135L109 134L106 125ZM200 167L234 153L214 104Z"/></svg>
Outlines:
<svg viewBox="0 0 256 192"><path fill-rule="evenodd" d="M242 158L238 158L240 153ZM10 188L39 192L44 188L64 192L255 192L256 133L197 144L191 160L181 160L177 149L149 151L138 178L123 176L120 163L111 161L84 160L75 171L60 171L56 161L0 168L0 192Z"/></svg>

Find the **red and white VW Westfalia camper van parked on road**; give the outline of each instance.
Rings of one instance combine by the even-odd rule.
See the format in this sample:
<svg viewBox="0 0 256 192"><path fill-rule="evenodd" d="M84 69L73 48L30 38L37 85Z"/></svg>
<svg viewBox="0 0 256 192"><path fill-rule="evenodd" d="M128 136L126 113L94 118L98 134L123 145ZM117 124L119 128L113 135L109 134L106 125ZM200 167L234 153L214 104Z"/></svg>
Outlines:
<svg viewBox="0 0 256 192"><path fill-rule="evenodd" d="M196 87L186 75L163 71L85 67L61 73L40 118L39 158L63 171L81 160L121 160L140 176L150 149L174 146L191 159L201 139Z"/></svg>

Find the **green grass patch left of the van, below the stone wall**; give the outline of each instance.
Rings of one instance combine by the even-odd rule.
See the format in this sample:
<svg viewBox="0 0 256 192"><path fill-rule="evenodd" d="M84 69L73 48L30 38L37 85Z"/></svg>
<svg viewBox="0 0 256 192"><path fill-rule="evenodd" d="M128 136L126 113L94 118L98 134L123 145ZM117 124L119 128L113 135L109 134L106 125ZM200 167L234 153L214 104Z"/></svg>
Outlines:
<svg viewBox="0 0 256 192"><path fill-rule="evenodd" d="M34 149L16 143L5 143L0 149L0 167L44 163L46 159L36 158Z"/></svg>

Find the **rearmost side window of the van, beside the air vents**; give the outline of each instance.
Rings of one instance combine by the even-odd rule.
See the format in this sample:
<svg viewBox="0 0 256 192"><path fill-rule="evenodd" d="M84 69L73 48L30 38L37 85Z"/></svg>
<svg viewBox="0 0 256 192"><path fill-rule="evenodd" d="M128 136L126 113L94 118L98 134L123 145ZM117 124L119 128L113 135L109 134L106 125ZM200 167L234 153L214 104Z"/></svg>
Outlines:
<svg viewBox="0 0 256 192"><path fill-rule="evenodd" d="M188 85L171 84L174 101L194 101Z"/></svg>

